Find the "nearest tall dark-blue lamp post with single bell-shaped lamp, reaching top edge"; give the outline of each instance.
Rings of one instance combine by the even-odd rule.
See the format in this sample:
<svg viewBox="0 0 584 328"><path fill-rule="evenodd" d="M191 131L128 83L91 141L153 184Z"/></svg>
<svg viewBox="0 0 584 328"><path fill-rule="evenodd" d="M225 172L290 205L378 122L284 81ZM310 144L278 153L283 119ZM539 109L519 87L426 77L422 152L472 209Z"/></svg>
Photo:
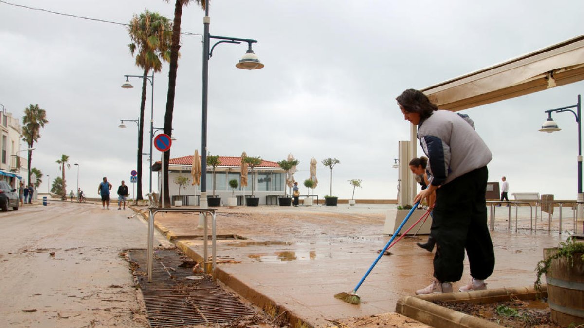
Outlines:
<svg viewBox="0 0 584 328"><path fill-rule="evenodd" d="M207 208L207 92L208 92L208 68L209 59L213 56L213 49L217 44L220 43L248 43L248 50L246 51L244 57L239 60L235 67L240 69L260 69L263 68L263 64L259 61L258 56L253 53L252 44L257 43L256 40L251 39L238 39L235 37L223 37L223 36L212 36L209 34L209 25L211 23L211 18L209 17L209 2L206 1L205 4L205 16L203 18L203 103L202 103L202 120L201 120L201 196L200 196L200 207ZM210 48L210 39L221 40L213 44ZM209 50L210 48L210 50ZM164 174L164 173L163 173ZM199 227L201 226L201 216L199 219Z"/></svg>

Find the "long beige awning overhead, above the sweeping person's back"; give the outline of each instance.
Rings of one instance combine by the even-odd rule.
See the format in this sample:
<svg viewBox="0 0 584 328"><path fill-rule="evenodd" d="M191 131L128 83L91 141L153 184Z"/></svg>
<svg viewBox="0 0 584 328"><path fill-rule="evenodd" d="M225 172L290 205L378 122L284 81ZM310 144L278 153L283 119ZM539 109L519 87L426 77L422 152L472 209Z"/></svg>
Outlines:
<svg viewBox="0 0 584 328"><path fill-rule="evenodd" d="M440 109L458 111L584 79L584 35L422 89Z"/></svg>

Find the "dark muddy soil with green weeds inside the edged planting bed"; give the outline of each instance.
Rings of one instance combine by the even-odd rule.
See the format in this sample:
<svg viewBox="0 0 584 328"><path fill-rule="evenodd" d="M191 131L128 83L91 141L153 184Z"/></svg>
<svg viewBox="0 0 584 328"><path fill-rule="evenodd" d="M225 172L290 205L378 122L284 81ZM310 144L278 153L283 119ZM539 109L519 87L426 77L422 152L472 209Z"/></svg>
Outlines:
<svg viewBox="0 0 584 328"><path fill-rule="evenodd" d="M509 301L498 303L451 303L435 301L467 315L489 320L503 327L561 327L551 321L550 307L541 301Z"/></svg>

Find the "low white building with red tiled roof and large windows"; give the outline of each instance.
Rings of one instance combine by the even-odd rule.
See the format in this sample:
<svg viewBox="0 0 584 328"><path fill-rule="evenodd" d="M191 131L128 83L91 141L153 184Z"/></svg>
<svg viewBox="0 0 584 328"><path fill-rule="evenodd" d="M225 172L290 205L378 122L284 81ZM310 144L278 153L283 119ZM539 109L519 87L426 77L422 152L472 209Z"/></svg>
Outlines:
<svg viewBox="0 0 584 328"><path fill-rule="evenodd" d="M240 198L240 204L245 196L252 194L252 186L255 187L253 195L259 197L259 204L266 204L272 202L276 204L277 196L284 196L284 184L286 183L286 171L280 168L278 163L263 160L262 163L253 168L253 172L248 168L248 186L241 187L241 157L223 157L220 156L221 165L215 168L215 196L221 197L221 203L227 204L227 198L232 195ZM193 165L193 156L184 156L180 158L173 158L170 160L168 168L169 176L169 193L171 199L178 199L179 186L174 182L178 176L189 177L185 189L180 190L180 199L183 204L187 202L189 205L198 204L198 198L201 193L200 186L193 186L193 178L190 175ZM161 164L154 163L152 170L158 171L158 190L161 187ZM229 186L229 181L237 180L239 187L232 190ZM253 180L253 184L252 184ZM207 195L213 195L213 167L207 165Z"/></svg>

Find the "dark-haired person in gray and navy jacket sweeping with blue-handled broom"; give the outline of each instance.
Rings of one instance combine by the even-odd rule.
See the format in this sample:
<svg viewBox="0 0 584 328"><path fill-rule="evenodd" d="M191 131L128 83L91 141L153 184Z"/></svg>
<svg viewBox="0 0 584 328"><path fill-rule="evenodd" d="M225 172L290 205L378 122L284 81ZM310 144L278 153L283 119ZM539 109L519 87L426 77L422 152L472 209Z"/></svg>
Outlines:
<svg viewBox="0 0 584 328"><path fill-rule="evenodd" d="M439 110L415 89L405 90L396 100L405 120L418 127L420 145L429 158L432 180L414 201L436 193L430 232L437 247L434 279L416 294L451 292L452 282L463 275L465 250L472 278L459 290L486 289L484 280L495 268L485 200L491 151L467 115Z"/></svg>

